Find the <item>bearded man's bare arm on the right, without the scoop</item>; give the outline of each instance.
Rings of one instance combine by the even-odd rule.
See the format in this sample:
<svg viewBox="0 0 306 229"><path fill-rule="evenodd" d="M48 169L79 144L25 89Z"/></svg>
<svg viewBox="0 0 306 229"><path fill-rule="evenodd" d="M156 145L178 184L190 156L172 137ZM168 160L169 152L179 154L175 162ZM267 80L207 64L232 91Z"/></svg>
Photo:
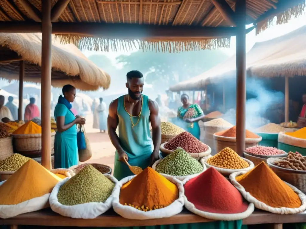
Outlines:
<svg viewBox="0 0 306 229"><path fill-rule="evenodd" d="M160 128L159 109L155 101L149 100L149 110L150 110L149 120L152 126L152 140L153 140L153 146L154 146L154 150L151 155L151 165L153 165L153 163L156 160L158 160L159 147L160 147L160 143L162 140L161 139L162 132Z"/></svg>

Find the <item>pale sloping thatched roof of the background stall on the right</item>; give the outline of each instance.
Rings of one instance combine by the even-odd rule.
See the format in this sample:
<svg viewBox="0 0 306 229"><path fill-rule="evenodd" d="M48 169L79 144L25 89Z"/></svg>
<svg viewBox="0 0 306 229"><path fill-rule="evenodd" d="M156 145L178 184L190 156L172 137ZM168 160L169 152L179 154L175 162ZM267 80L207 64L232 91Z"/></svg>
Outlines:
<svg viewBox="0 0 306 229"><path fill-rule="evenodd" d="M248 76L277 77L306 76L306 26L265 42L256 43L246 56ZM170 87L171 91L203 89L235 76L235 55L225 62L190 80Z"/></svg>

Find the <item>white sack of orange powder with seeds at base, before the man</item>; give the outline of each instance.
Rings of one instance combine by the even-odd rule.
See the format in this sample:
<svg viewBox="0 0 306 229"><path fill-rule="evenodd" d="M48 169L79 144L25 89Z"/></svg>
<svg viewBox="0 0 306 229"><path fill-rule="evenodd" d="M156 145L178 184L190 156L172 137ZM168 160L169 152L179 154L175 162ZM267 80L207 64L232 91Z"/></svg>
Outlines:
<svg viewBox="0 0 306 229"><path fill-rule="evenodd" d="M183 210L184 188L174 177L150 167L120 180L114 188L113 209L127 219L147 220L174 216Z"/></svg>

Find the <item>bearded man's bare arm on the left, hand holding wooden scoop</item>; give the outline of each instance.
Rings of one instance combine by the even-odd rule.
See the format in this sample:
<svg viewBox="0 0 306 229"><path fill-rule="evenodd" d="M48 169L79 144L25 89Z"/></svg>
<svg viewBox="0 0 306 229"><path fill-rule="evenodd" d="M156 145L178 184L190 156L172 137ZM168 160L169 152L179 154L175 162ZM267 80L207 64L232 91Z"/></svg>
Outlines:
<svg viewBox="0 0 306 229"><path fill-rule="evenodd" d="M109 106L108 117L107 117L108 136L110 137L110 141L118 151L119 160L123 160L123 157L125 157L125 159L128 160L128 156L125 153L125 151L122 149L119 143L119 137L116 133L116 129L118 127L117 106L118 106L118 99L113 100Z"/></svg>

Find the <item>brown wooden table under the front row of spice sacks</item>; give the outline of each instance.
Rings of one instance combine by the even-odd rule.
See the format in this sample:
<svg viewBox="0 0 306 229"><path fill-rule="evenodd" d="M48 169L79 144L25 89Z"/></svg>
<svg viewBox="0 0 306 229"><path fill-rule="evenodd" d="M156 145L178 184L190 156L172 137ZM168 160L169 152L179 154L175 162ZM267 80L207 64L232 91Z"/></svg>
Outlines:
<svg viewBox="0 0 306 229"><path fill-rule="evenodd" d="M61 216L45 209L32 213L25 213L9 219L0 219L0 225L12 225L11 228L17 228L16 225L38 225L38 226L70 226L70 227L140 227L156 226L169 224L186 224L186 223L205 223L214 220L208 220L197 216L188 211L169 218L154 220L129 220L125 219L113 210L98 216L95 219L73 219ZM274 228L282 228L284 223L306 223L306 212L295 215L279 215L256 210L251 216L243 221L245 225L251 224L274 224Z"/></svg>

